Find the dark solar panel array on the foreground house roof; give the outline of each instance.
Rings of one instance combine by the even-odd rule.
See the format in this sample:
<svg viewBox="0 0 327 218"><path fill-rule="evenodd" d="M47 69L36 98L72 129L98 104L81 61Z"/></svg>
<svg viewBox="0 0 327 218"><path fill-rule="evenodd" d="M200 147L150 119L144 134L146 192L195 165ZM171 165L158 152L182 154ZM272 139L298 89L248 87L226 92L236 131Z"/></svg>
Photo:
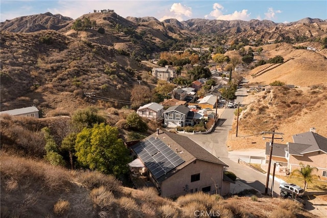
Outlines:
<svg viewBox="0 0 327 218"><path fill-rule="evenodd" d="M153 137L132 146L132 149L156 179L185 162L164 142Z"/></svg>

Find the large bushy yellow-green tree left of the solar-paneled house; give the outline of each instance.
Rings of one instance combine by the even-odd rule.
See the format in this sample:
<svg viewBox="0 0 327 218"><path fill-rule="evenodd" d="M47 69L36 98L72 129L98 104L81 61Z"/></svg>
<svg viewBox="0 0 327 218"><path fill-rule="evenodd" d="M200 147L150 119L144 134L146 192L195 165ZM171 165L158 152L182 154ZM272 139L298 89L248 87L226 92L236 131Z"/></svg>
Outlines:
<svg viewBox="0 0 327 218"><path fill-rule="evenodd" d="M119 177L128 171L129 150L116 127L104 123L84 128L76 138L77 161L86 168Z"/></svg>

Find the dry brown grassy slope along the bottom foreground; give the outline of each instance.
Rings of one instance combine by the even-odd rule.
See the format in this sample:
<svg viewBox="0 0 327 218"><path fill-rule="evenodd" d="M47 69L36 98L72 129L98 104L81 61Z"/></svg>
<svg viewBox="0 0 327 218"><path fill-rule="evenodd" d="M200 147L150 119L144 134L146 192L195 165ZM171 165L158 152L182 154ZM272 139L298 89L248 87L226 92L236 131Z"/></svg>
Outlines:
<svg viewBox="0 0 327 218"><path fill-rule="evenodd" d="M176 201L153 188L122 187L99 172L68 171L1 152L1 217L195 217L211 211L221 217L314 217L293 201L231 197L202 192ZM284 208L284 209L283 209Z"/></svg>

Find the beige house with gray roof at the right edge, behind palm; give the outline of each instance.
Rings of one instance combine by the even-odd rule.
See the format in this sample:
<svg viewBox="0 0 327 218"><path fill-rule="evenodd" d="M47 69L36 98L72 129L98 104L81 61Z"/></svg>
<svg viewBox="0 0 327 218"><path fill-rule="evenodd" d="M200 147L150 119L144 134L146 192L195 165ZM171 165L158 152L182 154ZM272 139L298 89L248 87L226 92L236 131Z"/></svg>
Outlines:
<svg viewBox="0 0 327 218"><path fill-rule="evenodd" d="M309 132L295 134L293 142L273 144L272 158L279 163L286 163L288 170L300 169L299 163L318 169L316 173L327 180L327 138L316 133L315 128ZM266 157L269 160L270 143L266 143Z"/></svg>

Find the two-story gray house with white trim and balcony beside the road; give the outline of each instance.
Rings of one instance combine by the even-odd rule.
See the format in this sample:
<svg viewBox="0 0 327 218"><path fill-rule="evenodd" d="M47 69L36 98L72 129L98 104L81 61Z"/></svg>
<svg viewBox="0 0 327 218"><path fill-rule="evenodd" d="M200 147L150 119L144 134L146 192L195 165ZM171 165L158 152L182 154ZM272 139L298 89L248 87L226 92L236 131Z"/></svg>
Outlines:
<svg viewBox="0 0 327 218"><path fill-rule="evenodd" d="M184 126L190 108L183 105L171 106L164 112L165 125L168 127Z"/></svg>

